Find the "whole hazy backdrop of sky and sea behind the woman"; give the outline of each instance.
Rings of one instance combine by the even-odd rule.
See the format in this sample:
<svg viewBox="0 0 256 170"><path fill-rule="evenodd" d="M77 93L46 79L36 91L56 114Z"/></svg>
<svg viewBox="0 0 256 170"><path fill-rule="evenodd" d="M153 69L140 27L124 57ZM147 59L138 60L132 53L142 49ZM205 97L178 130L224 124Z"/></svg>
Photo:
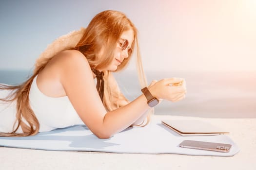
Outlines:
<svg viewBox="0 0 256 170"><path fill-rule="evenodd" d="M48 44L109 9L137 26L148 83L186 80L186 98L155 114L256 118L256 0L1 0L0 83L23 82ZM129 100L141 94L134 59L115 74Z"/></svg>

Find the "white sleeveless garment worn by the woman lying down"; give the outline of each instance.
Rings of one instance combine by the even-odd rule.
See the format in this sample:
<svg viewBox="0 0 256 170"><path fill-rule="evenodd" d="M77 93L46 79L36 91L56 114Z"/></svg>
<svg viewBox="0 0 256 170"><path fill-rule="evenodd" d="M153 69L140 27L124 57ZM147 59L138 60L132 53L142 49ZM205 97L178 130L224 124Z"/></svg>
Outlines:
<svg viewBox="0 0 256 170"><path fill-rule="evenodd" d="M0 94L1 93L3 92L0 92ZM2 97L2 95L0 95L0 97ZM29 102L39 120L39 132L47 132L57 128L84 124L67 96L58 98L48 97L39 90L37 86L37 76L34 78L30 88ZM0 103L0 132L12 132L13 123L16 119L15 114L16 101L11 104ZM19 128L17 133L20 132L21 129Z"/></svg>

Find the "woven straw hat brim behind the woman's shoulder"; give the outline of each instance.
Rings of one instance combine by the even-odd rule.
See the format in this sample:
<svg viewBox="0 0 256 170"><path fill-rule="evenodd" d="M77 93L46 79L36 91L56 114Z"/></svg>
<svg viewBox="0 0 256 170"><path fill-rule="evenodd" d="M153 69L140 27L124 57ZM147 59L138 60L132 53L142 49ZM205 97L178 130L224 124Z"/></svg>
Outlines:
<svg viewBox="0 0 256 170"><path fill-rule="evenodd" d="M85 28L81 28L79 31L73 31L68 34L62 35L51 44L47 46L36 61L34 73L38 71L41 65L45 64L50 58L55 56L58 52L75 47L82 35Z"/></svg>

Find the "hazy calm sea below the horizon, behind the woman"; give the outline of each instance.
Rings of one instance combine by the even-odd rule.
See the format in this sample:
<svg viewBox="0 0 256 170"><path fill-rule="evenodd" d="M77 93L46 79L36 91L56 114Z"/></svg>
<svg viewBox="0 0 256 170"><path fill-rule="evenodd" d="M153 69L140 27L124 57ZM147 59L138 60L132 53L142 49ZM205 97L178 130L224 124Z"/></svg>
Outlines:
<svg viewBox="0 0 256 170"><path fill-rule="evenodd" d="M0 70L0 83L18 85L33 70ZM206 118L256 118L256 71L145 71L152 80L181 77L186 80L187 94L179 102L163 101L155 115ZM120 90L128 100L141 95L136 71L114 73Z"/></svg>

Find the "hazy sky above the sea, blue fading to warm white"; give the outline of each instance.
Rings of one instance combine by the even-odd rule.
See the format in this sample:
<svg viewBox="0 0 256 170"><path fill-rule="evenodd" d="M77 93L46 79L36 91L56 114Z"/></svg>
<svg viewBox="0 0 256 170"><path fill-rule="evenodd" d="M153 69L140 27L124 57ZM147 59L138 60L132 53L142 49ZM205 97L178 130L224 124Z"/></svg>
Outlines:
<svg viewBox="0 0 256 170"><path fill-rule="evenodd" d="M1 0L0 69L32 69L54 39L109 9L138 28L145 70L256 71L256 0Z"/></svg>

